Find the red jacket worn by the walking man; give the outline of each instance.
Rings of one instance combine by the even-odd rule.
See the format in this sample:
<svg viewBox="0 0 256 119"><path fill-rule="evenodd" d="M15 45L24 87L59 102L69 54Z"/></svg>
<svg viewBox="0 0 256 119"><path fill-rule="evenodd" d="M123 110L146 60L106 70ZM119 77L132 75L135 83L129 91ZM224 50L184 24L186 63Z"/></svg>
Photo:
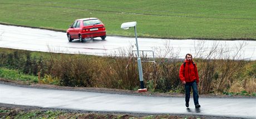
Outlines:
<svg viewBox="0 0 256 119"><path fill-rule="evenodd" d="M184 68L184 63L180 66L180 80L181 82L193 82L199 83L198 68L193 65L193 61L188 61L185 59L186 65Z"/></svg>

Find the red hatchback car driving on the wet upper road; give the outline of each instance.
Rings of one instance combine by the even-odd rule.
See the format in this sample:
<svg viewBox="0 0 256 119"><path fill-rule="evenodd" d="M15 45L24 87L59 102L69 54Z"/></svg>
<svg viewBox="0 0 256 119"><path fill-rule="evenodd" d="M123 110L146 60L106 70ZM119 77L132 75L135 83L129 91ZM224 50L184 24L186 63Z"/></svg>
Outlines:
<svg viewBox="0 0 256 119"><path fill-rule="evenodd" d="M106 28L98 18L76 19L75 22L67 29L67 38L71 42L73 39L80 39L83 42L85 38L101 37L106 38Z"/></svg>

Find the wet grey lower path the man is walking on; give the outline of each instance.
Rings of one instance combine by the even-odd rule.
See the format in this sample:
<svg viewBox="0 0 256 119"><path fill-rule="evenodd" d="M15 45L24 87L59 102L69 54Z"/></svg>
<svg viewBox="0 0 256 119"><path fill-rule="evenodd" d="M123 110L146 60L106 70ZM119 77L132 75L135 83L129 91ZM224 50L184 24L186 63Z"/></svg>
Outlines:
<svg viewBox="0 0 256 119"><path fill-rule="evenodd" d="M199 98L201 108L195 108L193 98L185 107L185 98L146 97L109 93L48 90L0 84L0 103L83 111L169 113L256 118L256 98Z"/></svg>

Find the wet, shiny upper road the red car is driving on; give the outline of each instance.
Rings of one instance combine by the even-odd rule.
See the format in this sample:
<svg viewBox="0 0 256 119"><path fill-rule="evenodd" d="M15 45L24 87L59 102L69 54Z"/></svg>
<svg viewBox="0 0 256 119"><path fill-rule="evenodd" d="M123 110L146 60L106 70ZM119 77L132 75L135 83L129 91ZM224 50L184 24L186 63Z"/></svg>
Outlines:
<svg viewBox="0 0 256 119"><path fill-rule="evenodd" d="M139 33L140 31L137 32ZM176 58L184 58L186 53L192 53L194 57L206 57L214 44L218 44L218 48L223 48L223 55L220 55L220 52L216 52L211 54L211 58L213 58L213 56L220 56L215 58L232 58L238 50L237 47L242 45L243 48L238 54L240 57L237 59L256 59L256 41L138 38L138 42L140 50L154 51L156 57L176 56ZM132 46L134 48L131 48ZM136 50L135 38L132 37L107 36L105 41L102 41L100 38L95 38L93 41L83 43L78 40L68 42L66 33L63 32L5 26L1 24L0 47L43 52L82 53L99 56L111 54L120 55L122 54L120 53L121 49L125 49L125 51ZM172 52L167 52L169 49L171 49ZM195 53L198 52L199 49L201 49L200 53ZM151 52L145 53L147 53L148 57L152 57Z"/></svg>

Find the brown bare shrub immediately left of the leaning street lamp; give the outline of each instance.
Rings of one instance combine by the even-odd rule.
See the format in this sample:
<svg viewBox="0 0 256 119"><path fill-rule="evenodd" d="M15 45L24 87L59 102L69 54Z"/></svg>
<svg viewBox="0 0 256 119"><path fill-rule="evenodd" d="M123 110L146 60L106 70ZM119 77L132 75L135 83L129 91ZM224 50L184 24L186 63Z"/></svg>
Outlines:
<svg viewBox="0 0 256 119"><path fill-rule="evenodd" d="M118 54L121 55L108 57L109 60L105 60L105 66L102 69L104 72L101 72L103 86L133 90L139 86L136 59L132 52L126 52L125 49L120 49ZM129 54L129 57L126 56L127 54Z"/></svg>

